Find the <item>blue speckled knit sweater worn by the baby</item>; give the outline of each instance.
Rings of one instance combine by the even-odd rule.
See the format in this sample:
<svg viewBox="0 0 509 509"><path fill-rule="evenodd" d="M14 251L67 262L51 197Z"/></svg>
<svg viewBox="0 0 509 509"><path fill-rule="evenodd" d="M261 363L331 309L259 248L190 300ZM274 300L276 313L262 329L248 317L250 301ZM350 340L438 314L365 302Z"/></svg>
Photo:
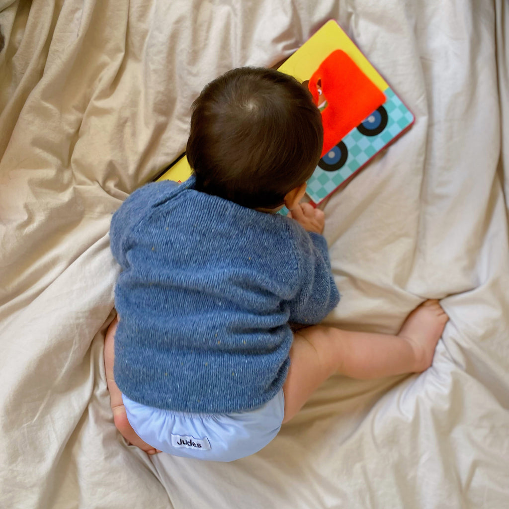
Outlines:
<svg viewBox="0 0 509 509"><path fill-rule="evenodd" d="M152 407L254 409L285 382L289 321L318 323L339 300L327 244L193 186L148 184L112 218L115 380Z"/></svg>

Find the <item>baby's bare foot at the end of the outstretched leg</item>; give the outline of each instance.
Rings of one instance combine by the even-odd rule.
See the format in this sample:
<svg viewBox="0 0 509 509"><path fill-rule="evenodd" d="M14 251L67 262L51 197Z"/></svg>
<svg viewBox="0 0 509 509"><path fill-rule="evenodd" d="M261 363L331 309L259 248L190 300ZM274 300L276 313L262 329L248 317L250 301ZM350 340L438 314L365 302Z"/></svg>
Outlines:
<svg viewBox="0 0 509 509"><path fill-rule="evenodd" d="M415 352L412 371L420 373L431 366L435 347L448 319L435 299L423 302L408 315L398 336L407 340Z"/></svg>

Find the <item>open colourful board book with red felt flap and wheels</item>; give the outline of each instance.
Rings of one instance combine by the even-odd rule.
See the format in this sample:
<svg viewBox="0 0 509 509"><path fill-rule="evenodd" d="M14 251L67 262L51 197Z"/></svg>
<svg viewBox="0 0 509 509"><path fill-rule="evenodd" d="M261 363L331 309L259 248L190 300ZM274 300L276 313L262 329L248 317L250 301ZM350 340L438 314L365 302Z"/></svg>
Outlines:
<svg viewBox="0 0 509 509"><path fill-rule="evenodd" d="M322 113L324 144L306 194L321 203L406 132L414 116L334 21L325 23L279 67L307 83ZM186 157L158 180L183 182Z"/></svg>

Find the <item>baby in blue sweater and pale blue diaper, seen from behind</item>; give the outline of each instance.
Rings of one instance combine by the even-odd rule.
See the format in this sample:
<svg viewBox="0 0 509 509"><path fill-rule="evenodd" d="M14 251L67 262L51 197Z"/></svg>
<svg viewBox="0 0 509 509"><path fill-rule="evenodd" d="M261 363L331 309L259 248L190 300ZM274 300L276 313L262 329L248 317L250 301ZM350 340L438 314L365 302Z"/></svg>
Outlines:
<svg viewBox="0 0 509 509"><path fill-rule="evenodd" d="M316 325L340 299L324 214L300 203L322 144L320 112L298 81L232 70L193 104L192 177L136 190L112 218L122 272L108 388L117 428L147 453L249 456L332 374L431 365L447 321L436 300L398 335ZM287 217L275 213L283 205Z"/></svg>

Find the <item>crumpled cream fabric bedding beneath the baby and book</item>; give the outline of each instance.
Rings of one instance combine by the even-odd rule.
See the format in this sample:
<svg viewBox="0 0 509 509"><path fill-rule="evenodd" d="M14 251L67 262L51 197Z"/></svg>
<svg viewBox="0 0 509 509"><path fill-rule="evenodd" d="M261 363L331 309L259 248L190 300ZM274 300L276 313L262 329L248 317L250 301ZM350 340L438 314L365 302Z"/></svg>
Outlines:
<svg viewBox="0 0 509 509"><path fill-rule="evenodd" d="M425 373L330 378L257 455L149 458L103 367L111 214L184 150L189 105L337 20L416 116L324 205L326 323L450 320ZM0 505L509 505L509 9L503 0L0 1Z"/></svg>

